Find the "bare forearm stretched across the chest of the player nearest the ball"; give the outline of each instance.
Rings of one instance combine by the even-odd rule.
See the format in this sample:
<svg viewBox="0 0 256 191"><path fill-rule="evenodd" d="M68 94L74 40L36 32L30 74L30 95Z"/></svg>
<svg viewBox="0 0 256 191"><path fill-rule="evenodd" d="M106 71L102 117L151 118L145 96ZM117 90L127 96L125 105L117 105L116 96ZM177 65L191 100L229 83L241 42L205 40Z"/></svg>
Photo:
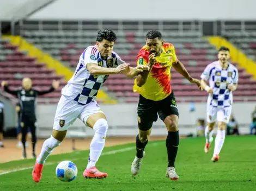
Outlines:
<svg viewBox="0 0 256 191"><path fill-rule="evenodd" d="M123 63L116 68L105 68L97 66L96 63L87 63L86 67L91 75L111 75L123 73L129 65L129 63Z"/></svg>

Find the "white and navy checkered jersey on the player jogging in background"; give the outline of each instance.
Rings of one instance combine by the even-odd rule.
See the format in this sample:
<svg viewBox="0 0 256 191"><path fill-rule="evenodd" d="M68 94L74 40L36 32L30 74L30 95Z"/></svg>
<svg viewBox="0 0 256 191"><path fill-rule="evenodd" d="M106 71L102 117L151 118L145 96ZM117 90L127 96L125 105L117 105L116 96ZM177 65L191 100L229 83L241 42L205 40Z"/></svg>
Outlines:
<svg viewBox="0 0 256 191"><path fill-rule="evenodd" d="M213 93L209 93L208 105L214 107L232 105L233 94L228 89L228 85L238 82L238 71L234 65L228 63L228 68L222 69L220 61L212 62L205 68L201 78L205 81L209 80L209 86L214 90Z"/></svg>

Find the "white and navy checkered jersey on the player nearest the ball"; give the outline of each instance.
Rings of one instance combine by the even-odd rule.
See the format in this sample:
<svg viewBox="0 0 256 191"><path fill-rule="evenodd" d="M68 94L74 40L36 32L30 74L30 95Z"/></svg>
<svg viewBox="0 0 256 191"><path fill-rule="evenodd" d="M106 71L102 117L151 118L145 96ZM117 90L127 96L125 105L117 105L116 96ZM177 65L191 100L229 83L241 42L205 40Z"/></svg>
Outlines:
<svg viewBox="0 0 256 191"><path fill-rule="evenodd" d="M63 95L71 97L82 105L95 101L97 92L108 78L108 75L90 75L86 67L88 63L96 63L97 66L101 67L116 68L125 61L121 60L115 52L112 52L106 60L103 60L96 46L89 46L84 50L73 77L62 89Z"/></svg>

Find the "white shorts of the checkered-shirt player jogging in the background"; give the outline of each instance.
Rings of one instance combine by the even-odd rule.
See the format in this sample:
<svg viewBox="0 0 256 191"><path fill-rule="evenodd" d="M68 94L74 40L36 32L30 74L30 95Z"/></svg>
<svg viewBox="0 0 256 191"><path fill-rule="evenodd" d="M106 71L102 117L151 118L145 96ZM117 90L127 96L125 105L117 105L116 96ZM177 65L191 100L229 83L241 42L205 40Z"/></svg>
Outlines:
<svg viewBox="0 0 256 191"><path fill-rule="evenodd" d="M209 105L207 107L207 122L214 123L217 120L217 122L228 123L231 115L231 109L231 106L218 108Z"/></svg>

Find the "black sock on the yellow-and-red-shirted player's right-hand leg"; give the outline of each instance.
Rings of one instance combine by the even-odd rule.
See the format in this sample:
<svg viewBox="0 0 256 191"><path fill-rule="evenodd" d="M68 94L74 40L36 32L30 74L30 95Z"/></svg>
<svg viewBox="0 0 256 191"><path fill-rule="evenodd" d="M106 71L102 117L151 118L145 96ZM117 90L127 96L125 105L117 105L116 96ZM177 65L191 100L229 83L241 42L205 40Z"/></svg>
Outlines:
<svg viewBox="0 0 256 191"><path fill-rule="evenodd" d="M168 154L168 167L174 167L175 158L178 152L180 143L179 131L168 131L166 138L166 148Z"/></svg>

